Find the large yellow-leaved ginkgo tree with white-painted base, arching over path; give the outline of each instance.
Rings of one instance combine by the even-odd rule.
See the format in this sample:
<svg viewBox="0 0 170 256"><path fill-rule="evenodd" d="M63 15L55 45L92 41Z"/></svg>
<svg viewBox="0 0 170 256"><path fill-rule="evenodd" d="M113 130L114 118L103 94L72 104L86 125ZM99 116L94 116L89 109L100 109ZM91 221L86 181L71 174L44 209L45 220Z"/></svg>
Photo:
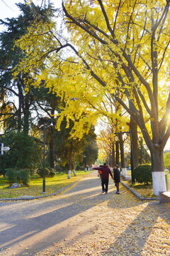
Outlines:
<svg viewBox="0 0 170 256"><path fill-rule="evenodd" d="M16 43L26 58L14 74L30 70L35 86L45 80L67 99L58 125L65 115L86 113L72 136L81 137L98 118L106 93L118 100L140 127L158 195L166 190L163 150L170 135L169 0L66 0L62 9L69 36L54 21L35 21Z"/></svg>

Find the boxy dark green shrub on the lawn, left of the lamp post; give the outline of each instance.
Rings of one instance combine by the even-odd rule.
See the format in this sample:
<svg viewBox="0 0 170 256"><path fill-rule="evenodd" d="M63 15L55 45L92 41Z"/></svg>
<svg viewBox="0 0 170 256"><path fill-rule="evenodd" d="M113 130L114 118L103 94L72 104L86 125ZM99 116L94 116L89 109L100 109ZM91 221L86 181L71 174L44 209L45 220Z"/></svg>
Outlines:
<svg viewBox="0 0 170 256"><path fill-rule="evenodd" d="M30 181L30 175L28 169L6 169L6 179L10 186L13 183L23 183L28 185Z"/></svg>

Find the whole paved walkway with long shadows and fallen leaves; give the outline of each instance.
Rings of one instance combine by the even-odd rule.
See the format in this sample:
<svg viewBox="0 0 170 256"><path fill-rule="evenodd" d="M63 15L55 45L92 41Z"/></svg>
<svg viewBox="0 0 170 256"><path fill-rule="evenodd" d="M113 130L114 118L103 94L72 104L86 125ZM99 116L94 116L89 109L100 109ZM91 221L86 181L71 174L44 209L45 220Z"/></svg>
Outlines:
<svg viewBox="0 0 170 256"><path fill-rule="evenodd" d="M57 196L0 203L0 255L170 255L170 206L140 201L97 171Z"/></svg>

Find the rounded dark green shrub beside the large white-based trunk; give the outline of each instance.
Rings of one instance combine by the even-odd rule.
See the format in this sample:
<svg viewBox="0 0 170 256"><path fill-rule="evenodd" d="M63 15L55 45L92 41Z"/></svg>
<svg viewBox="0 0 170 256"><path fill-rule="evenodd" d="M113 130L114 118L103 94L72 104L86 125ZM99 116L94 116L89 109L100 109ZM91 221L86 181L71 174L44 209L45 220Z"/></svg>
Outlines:
<svg viewBox="0 0 170 256"><path fill-rule="evenodd" d="M133 176L138 183L152 182L152 167L149 164L141 164L133 170Z"/></svg>

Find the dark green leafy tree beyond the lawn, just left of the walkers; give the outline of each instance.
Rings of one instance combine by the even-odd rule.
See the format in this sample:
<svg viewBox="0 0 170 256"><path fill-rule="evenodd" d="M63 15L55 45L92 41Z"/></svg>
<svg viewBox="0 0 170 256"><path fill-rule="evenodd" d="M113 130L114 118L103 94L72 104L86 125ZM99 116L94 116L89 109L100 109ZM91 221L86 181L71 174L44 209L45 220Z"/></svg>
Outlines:
<svg viewBox="0 0 170 256"><path fill-rule="evenodd" d="M69 127L67 127L67 119L64 118L60 131L55 130L52 134L55 161L57 165L66 166L69 169L75 169L76 165L84 165L86 168L86 164L91 165L98 158L98 147L96 145L94 127L91 127L89 134L84 134L84 137L80 140L71 137L70 134L72 133L73 127L74 122L69 120ZM71 164L71 166L69 166L69 164Z"/></svg>

